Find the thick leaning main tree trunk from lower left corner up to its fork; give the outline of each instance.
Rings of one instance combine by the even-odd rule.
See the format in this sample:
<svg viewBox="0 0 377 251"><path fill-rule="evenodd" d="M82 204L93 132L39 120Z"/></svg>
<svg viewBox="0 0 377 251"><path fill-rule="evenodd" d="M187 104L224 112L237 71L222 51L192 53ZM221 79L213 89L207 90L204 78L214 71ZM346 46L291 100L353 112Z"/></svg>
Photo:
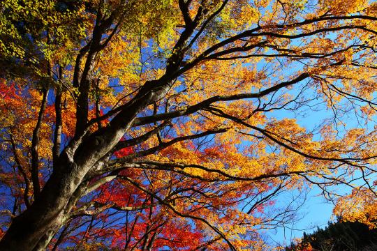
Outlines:
<svg viewBox="0 0 377 251"><path fill-rule="evenodd" d="M108 127L89 136L77 148L70 149L68 146L61 153L58 165L40 192L40 197L13 220L0 241L0 250L38 250L38 243L40 245L49 240L52 229L59 229L64 222L68 201L87 172L119 142L131 127L136 114L159 100L169 88L169 82L147 82Z"/></svg>

